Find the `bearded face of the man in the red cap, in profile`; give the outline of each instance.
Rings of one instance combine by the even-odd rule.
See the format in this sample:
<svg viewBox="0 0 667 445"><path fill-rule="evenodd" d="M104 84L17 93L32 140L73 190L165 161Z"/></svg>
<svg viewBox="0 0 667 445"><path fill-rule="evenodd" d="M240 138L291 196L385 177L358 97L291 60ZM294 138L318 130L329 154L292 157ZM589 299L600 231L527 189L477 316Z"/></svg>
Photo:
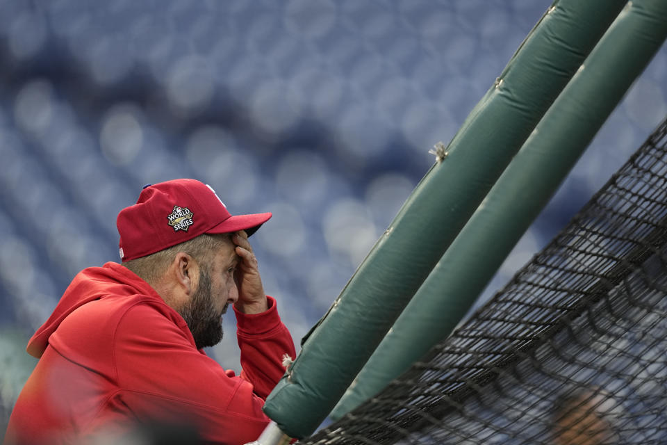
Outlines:
<svg viewBox="0 0 667 445"><path fill-rule="evenodd" d="M197 287L180 311L198 349L214 346L222 340L222 314L227 312L230 302L238 299L234 282L237 263L238 256L231 241L215 254L212 264L200 263Z"/></svg>

